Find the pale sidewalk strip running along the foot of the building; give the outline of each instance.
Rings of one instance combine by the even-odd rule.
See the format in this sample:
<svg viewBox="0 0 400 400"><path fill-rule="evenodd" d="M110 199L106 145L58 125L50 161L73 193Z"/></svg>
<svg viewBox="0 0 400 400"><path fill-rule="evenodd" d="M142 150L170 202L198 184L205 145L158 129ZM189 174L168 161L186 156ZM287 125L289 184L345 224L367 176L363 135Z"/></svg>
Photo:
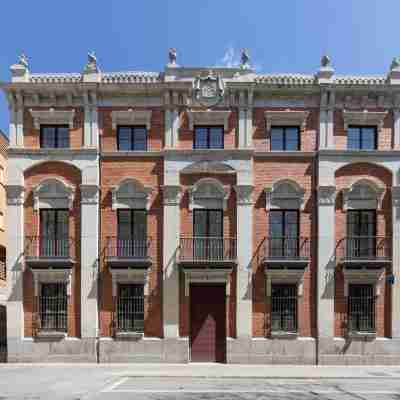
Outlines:
<svg viewBox="0 0 400 400"><path fill-rule="evenodd" d="M40 366L46 369L107 371L121 377L400 379L399 366L298 366L248 364L0 364L2 370Z"/></svg>

